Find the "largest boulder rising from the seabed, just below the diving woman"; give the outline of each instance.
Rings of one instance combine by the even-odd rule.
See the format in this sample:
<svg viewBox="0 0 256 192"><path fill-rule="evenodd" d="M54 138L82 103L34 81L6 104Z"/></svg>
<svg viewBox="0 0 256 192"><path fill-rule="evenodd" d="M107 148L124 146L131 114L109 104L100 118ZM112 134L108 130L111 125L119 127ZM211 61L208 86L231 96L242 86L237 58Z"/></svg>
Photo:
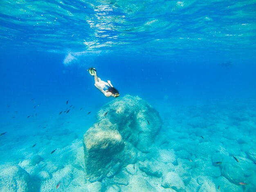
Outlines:
<svg viewBox="0 0 256 192"><path fill-rule="evenodd" d="M138 96L127 95L104 105L83 138L87 179L111 178L134 164L138 153L149 151L161 126L158 112Z"/></svg>

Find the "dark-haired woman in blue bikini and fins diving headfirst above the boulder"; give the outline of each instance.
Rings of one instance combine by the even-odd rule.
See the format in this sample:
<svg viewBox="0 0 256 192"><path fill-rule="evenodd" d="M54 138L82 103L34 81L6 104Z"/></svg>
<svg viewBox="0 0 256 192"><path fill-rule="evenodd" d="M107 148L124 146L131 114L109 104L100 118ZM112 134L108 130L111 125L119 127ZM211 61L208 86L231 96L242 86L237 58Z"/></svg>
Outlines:
<svg viewBox="0 0 256 192"><path fill-rule="evenodd" d="M110 80L107 80L107 82L101 80L101 78L99 78L97 76L96 73L96 69L91 67L90 69L87 69L87 71L89 71L89 73L94 76L94 85L95 87L97 87L106 97L118 97L119 96L119 92L118 90L113 87L113 85L111 84Z"/></svg>

